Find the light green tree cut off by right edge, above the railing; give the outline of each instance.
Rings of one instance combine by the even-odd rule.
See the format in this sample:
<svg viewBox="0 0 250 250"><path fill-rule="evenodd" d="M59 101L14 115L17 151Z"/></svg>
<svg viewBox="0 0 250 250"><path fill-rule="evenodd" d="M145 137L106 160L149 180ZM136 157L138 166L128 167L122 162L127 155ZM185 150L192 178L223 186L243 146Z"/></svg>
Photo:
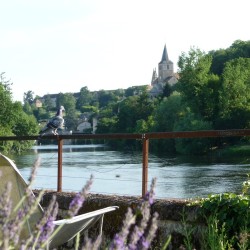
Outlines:
<svg viewBox="0 0 250 250"><path fill-rule="evenodd" d="M250 58L228 61L222 77L220 117L224 128L250 128Z"/></svg>

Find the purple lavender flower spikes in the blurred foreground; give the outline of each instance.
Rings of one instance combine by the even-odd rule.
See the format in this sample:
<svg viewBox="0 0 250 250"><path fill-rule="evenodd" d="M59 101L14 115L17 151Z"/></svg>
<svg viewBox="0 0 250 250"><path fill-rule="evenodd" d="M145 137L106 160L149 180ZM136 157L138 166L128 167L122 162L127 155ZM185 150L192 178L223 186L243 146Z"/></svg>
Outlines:
<svg viewBox="0 0 250 250"><path fill-rule="evenodd" d="M60 230L54 230L53 221L58 214L58 203L55 196L44 212L43 217L38 221L33 233L27 237L21 237L23 226L36 210L43 191L37 197L31 192L31 185L34 181L39 159L35 162L29 178L28 188L21 201L14 207L11 200L11 183L8 183L0 196L0 249L46 249L51 237ZM0 175L1 178L1 175ZM81 192L76 194L69 206L68 217L75 216L86 200L87 194L93 183L93 176L83 187ZM122 229L114 236L108 249L148 249L155 237L157 230L158 214L151 215L150 208L154 201L154 188L156 179L153 179L150 191L138 207L136 213L128 208ZM14 216L13 216L14 215ZM2 234L1 234L2 232ZM102 238L99 235L96 239L85 238L81 246L79 235L76 237L75 249L99 249Z"/></svg>

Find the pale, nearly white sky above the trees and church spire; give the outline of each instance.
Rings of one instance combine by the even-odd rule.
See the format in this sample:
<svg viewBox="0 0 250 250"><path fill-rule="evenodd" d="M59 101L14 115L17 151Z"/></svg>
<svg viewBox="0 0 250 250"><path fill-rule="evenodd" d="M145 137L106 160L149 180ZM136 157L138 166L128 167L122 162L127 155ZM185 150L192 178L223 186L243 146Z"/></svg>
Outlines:
<svg viewBox="0 0 250 250"><path fill-rule="evenodd" d="M182 52L250 40L249 0L1 0L0 73L13 100L150 84L164 45Z"/></svg>

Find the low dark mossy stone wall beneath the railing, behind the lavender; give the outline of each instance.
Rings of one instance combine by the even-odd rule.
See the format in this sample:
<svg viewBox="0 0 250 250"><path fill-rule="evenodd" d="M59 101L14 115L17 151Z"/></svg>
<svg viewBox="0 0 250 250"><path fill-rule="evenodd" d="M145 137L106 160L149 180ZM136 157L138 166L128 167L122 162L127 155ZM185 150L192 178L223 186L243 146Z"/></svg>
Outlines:
<svg viewBox="0 0 250 250"><path fill-rule="evenodd" d="M63 215L65 210L68 209L69 203L75 193L57 193L47 191L41 201L42 206L48 206L53 194L57 196L60 214ZM105 237L110 239L113 238L115 233L119 232L127 208L131 207L132 209L135 209L141 201L142 199L140 197L90 194L79 211L79 214L107 206L119 206L118 210L108 213L104 217L103 232ZM159 228L154 242L154 249L162 246L170 234L172 235L172 244L169 249L179 248L183 242L183 236L181 234L183 229L181 223L181 220L183 219L183 211L185 211L186 214L185 221L190 224L197 223L197 207L187 206L185 200L155 200L155 203L152 205L152 212L158 212L159 214Z"/></svg>

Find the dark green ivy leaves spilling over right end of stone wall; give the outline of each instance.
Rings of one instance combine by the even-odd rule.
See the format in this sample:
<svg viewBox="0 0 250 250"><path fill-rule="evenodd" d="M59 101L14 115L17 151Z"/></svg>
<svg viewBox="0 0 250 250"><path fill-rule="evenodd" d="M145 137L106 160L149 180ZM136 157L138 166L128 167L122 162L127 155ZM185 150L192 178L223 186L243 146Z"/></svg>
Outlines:
<svg viewBox="0 0 250 250"><path fill-rule="evenodd" d="M205 216L208 226L216 226L217 237L223 235L224 239L230 239L230 244L234 247L247 244L249 248L250 196L247 194L250 187L249 181L244 182L243 186L243 194L224 193L210 195L208 198L199 201L199 204L201 206L201 216ZM247 242L240 242L240 237L245 232L248 233ZM229 244L229 241L227 244Z"/></svg>

